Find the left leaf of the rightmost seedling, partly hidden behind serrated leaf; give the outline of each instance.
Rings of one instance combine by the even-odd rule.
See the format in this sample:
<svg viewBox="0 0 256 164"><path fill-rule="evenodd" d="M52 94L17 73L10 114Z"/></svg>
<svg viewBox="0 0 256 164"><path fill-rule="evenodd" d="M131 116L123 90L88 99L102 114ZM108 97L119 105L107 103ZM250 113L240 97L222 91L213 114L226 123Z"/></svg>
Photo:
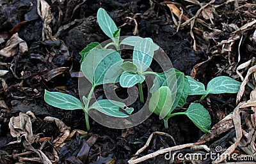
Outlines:
<svg viewBox="0 0 256 164"><path fill-rule="evenodd" d="M189 86L191 89L189 95L208 94L207 91L205 91L205 86L202 84L202 82L198 82L190 76L186 77L188 78Z"/></svg>

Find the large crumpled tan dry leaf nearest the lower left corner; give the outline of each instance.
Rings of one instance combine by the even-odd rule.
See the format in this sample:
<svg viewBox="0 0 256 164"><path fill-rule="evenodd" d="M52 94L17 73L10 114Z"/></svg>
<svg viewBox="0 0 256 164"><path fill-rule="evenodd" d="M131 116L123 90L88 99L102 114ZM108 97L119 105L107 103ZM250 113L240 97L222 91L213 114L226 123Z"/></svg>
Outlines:
<svg viewBox="0 0 256 164"><path fill-rule="evenodd" d="M25 137L29 144L33 144L36 140L36 136L32 132L31 119L28 114L19 113L19 116L12 117L9 123L10 133L12 137L16 137L17 141L10 142L9 144L21 142L22 136Z"/></svg>

